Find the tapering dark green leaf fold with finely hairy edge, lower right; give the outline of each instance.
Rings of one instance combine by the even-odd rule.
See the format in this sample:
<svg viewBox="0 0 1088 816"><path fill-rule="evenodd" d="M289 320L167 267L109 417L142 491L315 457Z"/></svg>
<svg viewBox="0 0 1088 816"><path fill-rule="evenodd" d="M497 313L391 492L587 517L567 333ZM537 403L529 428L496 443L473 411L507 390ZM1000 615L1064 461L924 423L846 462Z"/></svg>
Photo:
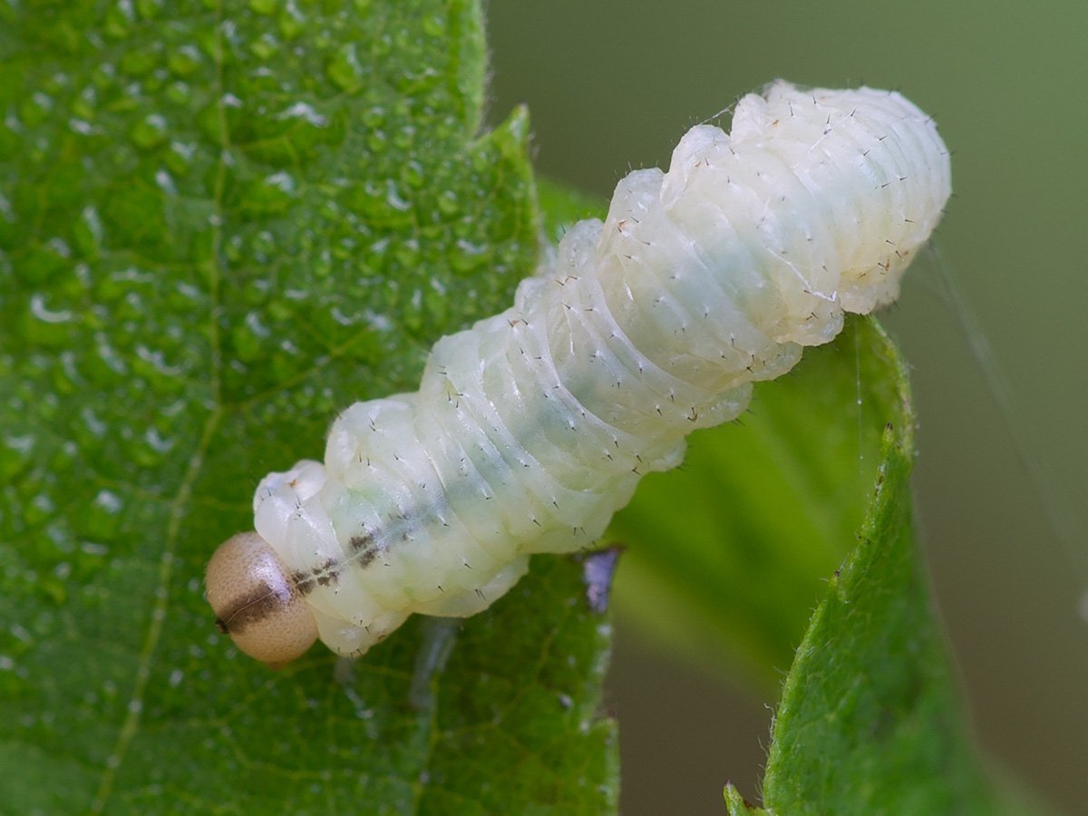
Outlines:
<svg viewBox="0 0 1088 816"><path fill-rule="evenodd" d="M886 338L874 341L899 406L861 543L836 571L787 678L764 804L791 814L1004 812L968 739L914 542L905 370Z"/></svg>

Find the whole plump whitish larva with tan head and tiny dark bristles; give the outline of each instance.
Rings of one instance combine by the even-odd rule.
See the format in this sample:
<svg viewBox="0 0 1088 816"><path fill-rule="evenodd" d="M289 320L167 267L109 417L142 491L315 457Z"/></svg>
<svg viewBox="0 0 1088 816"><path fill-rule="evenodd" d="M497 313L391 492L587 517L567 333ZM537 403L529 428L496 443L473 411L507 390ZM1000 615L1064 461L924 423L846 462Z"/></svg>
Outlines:
<svg viewBox="0 0 1088 816"><path fill-rule="evenodd" d="M893 300L950 190L937 128L899 94L744 97L729 135L693 127L667 173L623 178L512 308L440 339L418 392L356 403L323 465L269 474L256 532L208 566L218 623L279 665L486 608L530 553L590 546L844 310Z"/></svg>

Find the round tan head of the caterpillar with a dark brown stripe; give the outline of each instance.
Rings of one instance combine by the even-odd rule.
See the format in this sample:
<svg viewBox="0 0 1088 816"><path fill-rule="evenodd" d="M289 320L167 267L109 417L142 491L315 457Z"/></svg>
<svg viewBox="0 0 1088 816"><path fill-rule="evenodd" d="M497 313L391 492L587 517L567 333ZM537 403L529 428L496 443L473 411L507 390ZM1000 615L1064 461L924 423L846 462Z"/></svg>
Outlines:
<svg viewBox="0 0 1088 816"><path fill-rule="evenodd" d="M290 571L255 532L220 544L208 562L205 586L220 631L271 668L302 655L318 639L313 613Z"/></svg>

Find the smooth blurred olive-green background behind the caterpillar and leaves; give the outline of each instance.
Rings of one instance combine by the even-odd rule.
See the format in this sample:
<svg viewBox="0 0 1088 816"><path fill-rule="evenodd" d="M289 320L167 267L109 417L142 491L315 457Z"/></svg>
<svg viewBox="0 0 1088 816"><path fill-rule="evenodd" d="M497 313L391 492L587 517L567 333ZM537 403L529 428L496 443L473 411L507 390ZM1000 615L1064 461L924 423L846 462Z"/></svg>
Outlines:
<svg viewBox="0 0 1088 816"><path fill-rule="evenodd" d="M688 126L775 77L898 88L936 116L956 197L940 260L915 265L885 318L913 367L922 535L981 743L1083 812L1088 3L556 0L487 11L491 121L528 103L540 172L602 200L631 168L667 164ZM949 279L977 327L950 302ZM987 345L1006 385L984 373ZM621 620L610 701L625 814L721 813L726 779L756 795L772 700L687 669Z"/></svg>

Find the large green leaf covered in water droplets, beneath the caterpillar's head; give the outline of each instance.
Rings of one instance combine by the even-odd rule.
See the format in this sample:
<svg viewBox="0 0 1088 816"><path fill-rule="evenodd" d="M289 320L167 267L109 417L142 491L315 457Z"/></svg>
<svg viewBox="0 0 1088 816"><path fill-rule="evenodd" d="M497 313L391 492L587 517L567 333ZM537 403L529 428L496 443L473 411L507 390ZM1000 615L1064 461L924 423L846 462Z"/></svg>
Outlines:
<svg viewBox="0 0 1088 816"><path fill-rule="evenodd" d="M202 599L258 479L532 270L483 53L468 0L0 5L7 808L615 808L569 560L348 675L269 673Z"/></svg>

